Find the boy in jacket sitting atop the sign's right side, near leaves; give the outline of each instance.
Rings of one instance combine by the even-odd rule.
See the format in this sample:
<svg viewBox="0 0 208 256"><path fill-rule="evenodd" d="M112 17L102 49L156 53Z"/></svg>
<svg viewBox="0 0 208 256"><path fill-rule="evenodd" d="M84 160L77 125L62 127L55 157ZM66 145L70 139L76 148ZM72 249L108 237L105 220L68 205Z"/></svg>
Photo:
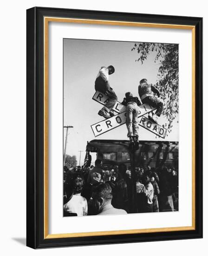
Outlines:
<svg viewBox="0 0 208 256"><path fill-rule="evenodd" d="M163 112L163 102L156 98L153 93L160 97L160 92L154 85L148 84L145 78L139 83L138 93L142 103L148 103L150 106L157 108L156 113L153 114L152 117L149 115L149 118L157 123L158 116Z"/></svg>

